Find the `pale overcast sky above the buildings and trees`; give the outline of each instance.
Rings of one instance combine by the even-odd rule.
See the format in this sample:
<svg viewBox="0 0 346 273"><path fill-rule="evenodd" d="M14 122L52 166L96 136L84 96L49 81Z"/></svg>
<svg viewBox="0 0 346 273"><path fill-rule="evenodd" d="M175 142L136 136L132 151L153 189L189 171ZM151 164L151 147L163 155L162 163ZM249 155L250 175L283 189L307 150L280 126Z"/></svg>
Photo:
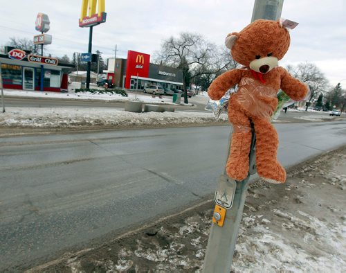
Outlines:
<svg viewBox="0 0 346 273"><path fill-rule="evenodd" d="M163 39L183 31L199 33L208 41L224 44L226 35L240 31L251 21L255 0L105 0L107 21L93 28L93 52L118 58L127 51L151 54ZM54 56L87 52L89 28L80 28L82 0L0 0L0 45L10 37L33 39L38 12L51 21ZM291 30L291 46L280 65L315 63L331 85L346 87L346 0L284 0L282 17L297 21Z"/></svg>

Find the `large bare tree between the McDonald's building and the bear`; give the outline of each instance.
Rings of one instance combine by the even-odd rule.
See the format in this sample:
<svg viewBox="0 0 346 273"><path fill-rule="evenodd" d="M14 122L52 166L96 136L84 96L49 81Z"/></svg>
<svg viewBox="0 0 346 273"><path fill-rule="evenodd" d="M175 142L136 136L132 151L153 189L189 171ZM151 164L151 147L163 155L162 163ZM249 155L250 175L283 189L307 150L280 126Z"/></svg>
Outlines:
<svg viewBox="0 0 346 273"><path fill-rule="evenodd" d="M211 75L225 69L228 63L220 60L220 51L201 35L181 33L179 37L170 37L163 41L161 50L154 53L154 60L183 70L184 103L188 103L186 89L192 78ZM220 67L220 64L221 65Z"/></svg>

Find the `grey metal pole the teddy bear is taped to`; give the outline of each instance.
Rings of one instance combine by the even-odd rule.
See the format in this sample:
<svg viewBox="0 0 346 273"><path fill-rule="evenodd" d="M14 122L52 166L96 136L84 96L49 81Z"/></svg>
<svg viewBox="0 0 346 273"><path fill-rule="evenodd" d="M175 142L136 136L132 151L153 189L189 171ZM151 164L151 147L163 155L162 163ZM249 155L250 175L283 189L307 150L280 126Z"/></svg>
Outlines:
<svg viewBox="0 0 346 273"><path fill-rule="evenodd" d="M283 0L255 0L253 19L280 18ZM260 17L258 17L260 16ZM250 162L248 177L243 181L235 181L226 175L219 177L217 191L215 192L215 210L212 217L212 227L204 257L203 272L205 273L229 273L233 263L235 243L242 220L242 213L250 175L256 173L255 167L255 143L256 136L252 127L253 137L251 141ZM232 132L230 133L230 139ZM230 141L228 141L230 143ZM228 147L228 156L230 147ZM227 158L228 158L227 156ZM227 159L226 159L227 160ZM260 269L259 269L260 270Z"/></svg>

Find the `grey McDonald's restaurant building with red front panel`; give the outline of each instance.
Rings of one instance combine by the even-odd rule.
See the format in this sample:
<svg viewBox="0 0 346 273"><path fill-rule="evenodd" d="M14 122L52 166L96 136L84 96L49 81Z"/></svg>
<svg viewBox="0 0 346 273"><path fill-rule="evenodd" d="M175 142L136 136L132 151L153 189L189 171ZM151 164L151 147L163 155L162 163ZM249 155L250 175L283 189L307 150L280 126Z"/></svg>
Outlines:
<svg viewBox="0 0 346 273"><path fill-rule="evenodd" d="M114 79L114 69L116 76ZM144 89L148 85L160 85L169 89L183 89L183 71L151 64L150 55L136 51L128 51L127 59L108 59L107 79L116 87L126 89ZM137 82L138 80L138 82Z"/></svg>

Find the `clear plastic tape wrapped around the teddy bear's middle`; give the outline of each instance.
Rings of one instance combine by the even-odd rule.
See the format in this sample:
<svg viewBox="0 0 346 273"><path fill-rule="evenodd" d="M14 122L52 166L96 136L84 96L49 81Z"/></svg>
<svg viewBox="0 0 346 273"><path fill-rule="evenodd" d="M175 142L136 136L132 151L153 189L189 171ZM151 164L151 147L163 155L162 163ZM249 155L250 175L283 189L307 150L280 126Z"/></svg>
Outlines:
<svg viewBox="0 0 346 273"><path fill-rule="evenodd" d="M307 87L309 89L309 86ZM280 116L280 112L284 107L288 107L296 102L289 98L281 89L277 92L272 87L266 87L257 80L243 78L241 82L239 82L239 85L228 89L220 100L210 99L205 109L212 111L216 120L219 120L221 114L227 114L228 112L228 100L230 96L237 96L237 102L251 115L268 118L271 121ZM303 100L309 98L309 96L310 89ZM276 103L277 106L275 107ZM236 129L237 125L233 125L233 127ZM241 127L238 129L237 131L243 131ZM246 131L248 131L247 128Z"/></svg>

